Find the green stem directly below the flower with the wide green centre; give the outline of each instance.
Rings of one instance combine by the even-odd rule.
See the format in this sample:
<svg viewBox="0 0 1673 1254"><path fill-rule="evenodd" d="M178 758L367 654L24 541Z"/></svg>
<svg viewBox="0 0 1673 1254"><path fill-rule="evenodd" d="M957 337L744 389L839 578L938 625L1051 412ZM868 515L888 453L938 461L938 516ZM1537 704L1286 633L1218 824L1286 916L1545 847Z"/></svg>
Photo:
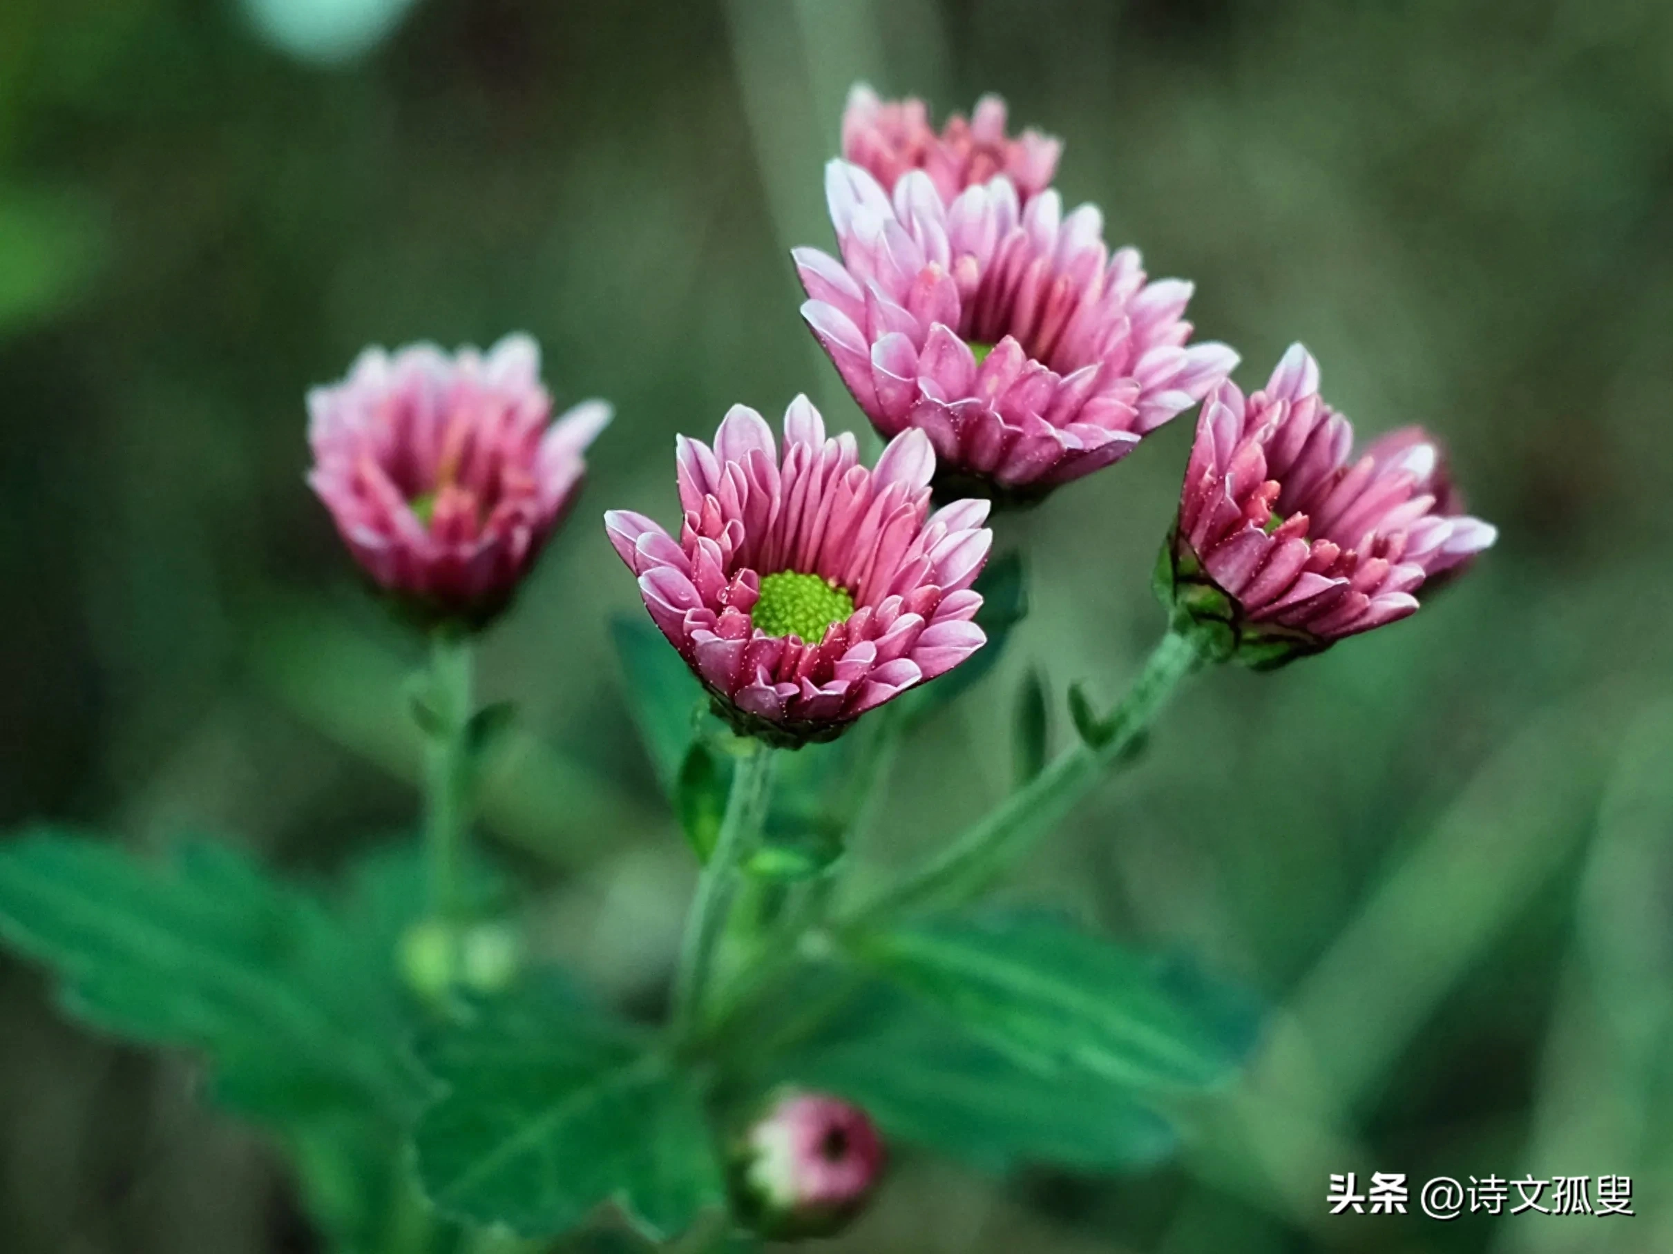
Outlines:
<svg viewBox="0 0 1673 1254"><path fill-rule="evenodd" d="M698 895L686 916L674 971L674 1037L688 1042L704 1028L704 1002L714 975L714 955L738 895L744 859L755 849L773 793L773 749L748 739L733 766L726 816L714 851L698 878Z"/></svg>

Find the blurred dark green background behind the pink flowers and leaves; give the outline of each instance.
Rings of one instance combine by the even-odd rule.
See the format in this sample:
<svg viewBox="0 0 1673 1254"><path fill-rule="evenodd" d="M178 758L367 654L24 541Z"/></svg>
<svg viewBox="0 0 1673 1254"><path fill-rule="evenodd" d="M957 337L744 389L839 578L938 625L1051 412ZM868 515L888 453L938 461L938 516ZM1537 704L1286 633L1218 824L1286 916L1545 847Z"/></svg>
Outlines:
<svg viewBox="0 0 1673 1254"><path fill-rule="evenodd" d="M298 874L410 823L418 659L303 485L303 390L368 343L532 331L611 398L582 507L489 639L525 737L485 828L540 948L654 998L693 878L619 696L607 505L674 431L801 390L791 244L855 79L1000 90L1067 140L1256 386L1292 339L1422 421L1499 547L1417 619L1191 686L1010 890L1275 1003L1174 1165L905 1159L850 1251L1673 1249L1673 7L1643 0L3 0L0 819L224 834ZM1004 522L1034 614L908 744L863 856L990 804L1022 669L1113 697L1191 421ZM1054 711L1054 736L1067 719ZM186 1060L0 960L0 1249L308 1251ZM1327 1216L1330 1172L1630 1174L1638 1217ZM1415 1189L1414 1189L1415 1202Z"/></svg>

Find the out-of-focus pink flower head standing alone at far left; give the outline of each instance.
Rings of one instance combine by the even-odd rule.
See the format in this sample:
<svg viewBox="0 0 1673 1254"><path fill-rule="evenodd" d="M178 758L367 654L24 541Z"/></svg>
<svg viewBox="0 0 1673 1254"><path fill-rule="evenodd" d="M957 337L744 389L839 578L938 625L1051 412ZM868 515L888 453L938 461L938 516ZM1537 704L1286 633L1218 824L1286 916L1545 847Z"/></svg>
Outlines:
<svg viewBox="0 0 1673 1254"><path fill-rule="evenodd" d="M308 483L380 587L427 620L478 627L574 502L611 406L550 416L525 334L487 356L368 348L346 380L308 393Z"/></svg>

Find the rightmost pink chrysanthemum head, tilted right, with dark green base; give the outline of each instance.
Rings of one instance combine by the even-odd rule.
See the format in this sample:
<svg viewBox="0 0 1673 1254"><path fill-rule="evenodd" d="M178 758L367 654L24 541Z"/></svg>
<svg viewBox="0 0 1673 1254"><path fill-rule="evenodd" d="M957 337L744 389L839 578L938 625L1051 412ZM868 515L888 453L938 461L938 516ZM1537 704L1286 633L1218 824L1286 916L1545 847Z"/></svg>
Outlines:
<svg viewBox="0 0 1673 1254"><path fill-rule="evenodd" d="M1417 610L1497 532L1464 513L1442 450L1420 428L1350 460L1348 420L1318 396L1300 344L1263 391L1208 396L1159 592L1215 650L1278 665Z"/></svg>

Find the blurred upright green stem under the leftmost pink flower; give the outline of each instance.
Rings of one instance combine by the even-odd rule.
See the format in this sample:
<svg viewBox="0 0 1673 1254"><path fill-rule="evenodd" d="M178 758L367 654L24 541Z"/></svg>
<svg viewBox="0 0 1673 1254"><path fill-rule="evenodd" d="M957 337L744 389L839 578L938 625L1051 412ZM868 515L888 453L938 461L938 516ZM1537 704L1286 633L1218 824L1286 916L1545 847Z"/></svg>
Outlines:
<svg viewBox="0 0 1673 1254"><path fill-rule="evenodd" d="M470 637L445 627L430 637L427 701L435 727L425 747L425 851L430 918L463 921L463 863L470 828Z"/></svg>

